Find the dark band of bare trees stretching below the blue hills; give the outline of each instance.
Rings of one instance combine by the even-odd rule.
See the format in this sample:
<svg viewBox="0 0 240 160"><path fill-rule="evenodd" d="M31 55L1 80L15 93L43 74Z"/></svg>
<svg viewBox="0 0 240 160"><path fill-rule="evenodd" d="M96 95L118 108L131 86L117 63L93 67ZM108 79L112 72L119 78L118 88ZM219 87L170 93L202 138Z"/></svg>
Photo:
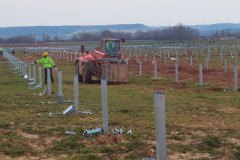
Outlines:
<svg viewBox="0 0 240 160"><path fill-rule="evenodd" d="M102 38L111 37L125 40L167 40L167 41L183 41L183 40L198 40L198 39L220 39L221 37L240 38L240 32L231 32L226 30L215 31L208 36L201 36L199 30L192 29L184 25L177 25L163 29L149 31L110 31L103 30L100 32L80 32L73 34L68 39L63 39L56 36L50 37L43 34L42 39L37 39L34 35L19 35L9 38L0 37L0 43L35 43L41 42L75 42L75 41L99 41Z"/></svg>

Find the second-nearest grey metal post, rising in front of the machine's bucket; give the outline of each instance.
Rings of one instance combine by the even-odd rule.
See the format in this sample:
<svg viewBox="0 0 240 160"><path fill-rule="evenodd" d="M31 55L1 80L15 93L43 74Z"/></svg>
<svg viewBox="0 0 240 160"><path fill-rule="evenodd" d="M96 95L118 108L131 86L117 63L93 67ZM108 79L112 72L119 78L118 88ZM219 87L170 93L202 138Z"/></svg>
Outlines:
<svg viewBox="0 0 240 160"><path fill-rule="evenodd" d="M101 79L101 95L102 95L102 121L103 132L108 133L108 100L107 100L107 79Z"/></svg>

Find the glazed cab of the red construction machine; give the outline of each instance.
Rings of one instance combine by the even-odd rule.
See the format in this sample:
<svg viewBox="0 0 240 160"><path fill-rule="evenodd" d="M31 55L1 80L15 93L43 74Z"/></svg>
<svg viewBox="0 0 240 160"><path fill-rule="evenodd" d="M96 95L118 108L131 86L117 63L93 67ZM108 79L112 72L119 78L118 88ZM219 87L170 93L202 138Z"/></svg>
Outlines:
<svg viewBox="0 0 240 160"><path fill-rule="evenodd" d="M120 56L119 39L103 39L101 41L101 52L106 53L108 57L116 58Z"/></svg>

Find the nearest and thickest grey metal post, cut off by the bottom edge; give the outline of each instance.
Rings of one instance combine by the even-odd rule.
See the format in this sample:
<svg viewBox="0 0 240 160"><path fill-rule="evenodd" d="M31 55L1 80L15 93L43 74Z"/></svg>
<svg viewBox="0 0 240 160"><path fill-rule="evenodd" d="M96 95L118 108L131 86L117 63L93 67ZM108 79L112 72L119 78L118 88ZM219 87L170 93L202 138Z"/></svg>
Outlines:
<svg viewBox="0 0 240 160"><path fill-rule="evenodd" d="M167 160L165 94L163 92L154 93L154 112L157 160Z"/></svg>

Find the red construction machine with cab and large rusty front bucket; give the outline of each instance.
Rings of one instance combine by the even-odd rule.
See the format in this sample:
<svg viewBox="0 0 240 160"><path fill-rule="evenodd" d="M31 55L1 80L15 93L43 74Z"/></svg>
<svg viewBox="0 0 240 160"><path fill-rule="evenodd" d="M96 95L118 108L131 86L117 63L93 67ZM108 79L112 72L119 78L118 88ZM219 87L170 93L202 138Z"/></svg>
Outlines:
<svg viewBox="0 0 240 160"><path fill-rule="evenodd" d="M100 48L88 53L81 47L81 55L76 60L79 81L91 83L106 78L109 82L128 82L128 64L122 59L121 40L104 38Z"/></svg>

